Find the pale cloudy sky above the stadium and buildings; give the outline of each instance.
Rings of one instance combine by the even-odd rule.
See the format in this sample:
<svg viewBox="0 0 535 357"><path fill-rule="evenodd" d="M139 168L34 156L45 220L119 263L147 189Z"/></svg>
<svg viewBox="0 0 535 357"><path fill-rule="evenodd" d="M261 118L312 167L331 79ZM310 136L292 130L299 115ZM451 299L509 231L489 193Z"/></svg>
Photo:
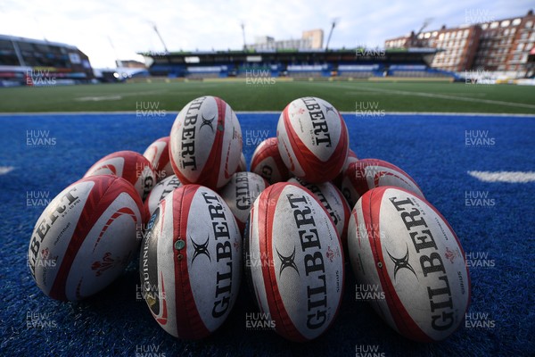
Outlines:
<svg viewBox="0 0 535 357"><path fill-rule="evenodd" d="M532 0L2 0L0 34L46 38L78 46L95 68L116 58L163 51L155 23L169 51L240 49L245 24L248 44L255 36L300 38L302 30L324 29L338 18L330 48L383 46L386 38L442 24L522 16ZM325 46L325 42L324 42Z"/></svg>

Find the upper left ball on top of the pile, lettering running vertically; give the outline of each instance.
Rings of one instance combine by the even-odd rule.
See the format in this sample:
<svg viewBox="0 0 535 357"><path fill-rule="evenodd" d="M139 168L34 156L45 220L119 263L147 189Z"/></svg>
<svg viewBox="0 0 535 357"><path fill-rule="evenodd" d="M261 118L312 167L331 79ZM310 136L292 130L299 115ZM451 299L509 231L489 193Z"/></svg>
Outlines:
<svg viewBox="0 0 535 357"><path fill-rule="evenodd" d="M180 182L218 189L238 170L242 129L224 100L202 96L178 113L169 145L171 165Z"/></svg>

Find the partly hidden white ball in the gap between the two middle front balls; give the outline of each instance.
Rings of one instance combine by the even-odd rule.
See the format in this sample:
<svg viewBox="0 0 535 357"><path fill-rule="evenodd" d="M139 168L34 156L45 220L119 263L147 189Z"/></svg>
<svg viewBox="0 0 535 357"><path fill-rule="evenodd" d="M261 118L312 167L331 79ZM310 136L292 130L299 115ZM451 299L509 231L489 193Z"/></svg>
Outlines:
<svg viewBox="0 0 535 357"><path fill-rule="evenodd" d="M219 194L225 200L243 233L254 200L266 187L268 181L253 172L236 172Z"/></svg>

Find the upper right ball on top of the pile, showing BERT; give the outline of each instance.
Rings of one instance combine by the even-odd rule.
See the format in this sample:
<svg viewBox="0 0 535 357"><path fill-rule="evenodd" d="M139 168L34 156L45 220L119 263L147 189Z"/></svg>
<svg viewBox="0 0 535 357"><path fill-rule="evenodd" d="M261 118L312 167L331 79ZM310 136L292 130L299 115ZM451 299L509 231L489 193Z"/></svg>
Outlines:
<svg viewBox="0 0 535 357"><path fill-rule="evenodd" d="M311 183L331 181L342 171L350 137L340 112L325 100L304 97L284 108L276 127L286 167Z"/></svg>

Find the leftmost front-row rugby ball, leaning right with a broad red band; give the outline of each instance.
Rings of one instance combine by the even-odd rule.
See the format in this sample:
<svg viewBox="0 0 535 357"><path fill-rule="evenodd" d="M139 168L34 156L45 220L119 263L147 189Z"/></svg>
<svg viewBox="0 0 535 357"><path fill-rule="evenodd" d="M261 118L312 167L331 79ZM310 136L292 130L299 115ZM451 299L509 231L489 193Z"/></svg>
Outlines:
<svg viewBox="0 0 535 357"><path fill-rule="evenodd" d="M136 253L143 222L143 203L127 180L105 175L73 183L33 230L28 262L37 286L63 301L98 293Z"/></svg>

